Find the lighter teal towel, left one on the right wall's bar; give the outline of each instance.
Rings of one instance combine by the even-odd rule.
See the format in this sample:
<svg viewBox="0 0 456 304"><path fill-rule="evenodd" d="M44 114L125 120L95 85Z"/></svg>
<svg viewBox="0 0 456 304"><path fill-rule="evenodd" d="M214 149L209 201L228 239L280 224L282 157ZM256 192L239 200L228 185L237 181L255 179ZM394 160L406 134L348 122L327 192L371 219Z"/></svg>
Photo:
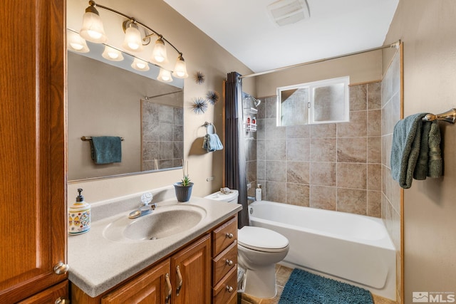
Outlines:
<svg viewBox="0 0 456 304"><path fill-rule="evenodd" d="M391 147L391 174L399 186L412 186L413 172L420 154L422 118L427 113L418 113L399 120L394 126Z"/></svg>

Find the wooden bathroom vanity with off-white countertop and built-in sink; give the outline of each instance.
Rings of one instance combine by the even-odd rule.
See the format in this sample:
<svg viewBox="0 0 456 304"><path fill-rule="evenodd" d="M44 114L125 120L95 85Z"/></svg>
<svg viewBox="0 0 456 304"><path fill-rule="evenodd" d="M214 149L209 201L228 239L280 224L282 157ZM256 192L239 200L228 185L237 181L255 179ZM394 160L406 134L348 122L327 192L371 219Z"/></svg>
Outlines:
<svg viewBox="0 0 456 304"><path fill-rule="evenodd" d="M172 198L157 202L152 214L128 219L137 202L94 204L90 231L68 238L73 303L236 303L242 206Z"/></svg>

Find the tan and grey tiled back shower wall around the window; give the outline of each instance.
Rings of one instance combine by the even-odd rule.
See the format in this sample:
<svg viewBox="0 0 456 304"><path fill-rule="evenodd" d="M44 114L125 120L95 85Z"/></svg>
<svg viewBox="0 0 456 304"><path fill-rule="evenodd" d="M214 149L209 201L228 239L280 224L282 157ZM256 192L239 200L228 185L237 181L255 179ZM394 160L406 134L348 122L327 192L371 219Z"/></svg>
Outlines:
<svg viewBox="0 0 456 304"><path fill-rule="evenodd" d="M269 201L381 216L381 83L351 85L350 122L277 127L276 97L261 100L249 195L261 183Z"/></svg>

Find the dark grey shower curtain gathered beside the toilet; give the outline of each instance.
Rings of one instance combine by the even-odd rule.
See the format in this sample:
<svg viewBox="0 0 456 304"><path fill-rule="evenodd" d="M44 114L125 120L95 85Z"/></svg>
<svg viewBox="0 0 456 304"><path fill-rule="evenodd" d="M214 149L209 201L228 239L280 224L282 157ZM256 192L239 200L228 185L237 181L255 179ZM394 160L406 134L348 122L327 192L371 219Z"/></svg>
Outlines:
<svg viewBox="0 0 456 304"><path fill-rule="evenodd" d="M242 82L239 73L227 75L225 85L225 186L239 191L238 227L249 225L247 177L242 127Z"/></svg>

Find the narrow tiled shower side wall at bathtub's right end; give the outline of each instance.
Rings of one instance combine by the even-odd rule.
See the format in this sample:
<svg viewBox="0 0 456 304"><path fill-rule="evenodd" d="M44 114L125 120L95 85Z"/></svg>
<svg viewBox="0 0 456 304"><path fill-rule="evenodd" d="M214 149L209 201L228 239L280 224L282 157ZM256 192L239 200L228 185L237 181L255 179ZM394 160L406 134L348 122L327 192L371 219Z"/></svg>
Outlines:
<svg viewBox="0 0 456 304"><path fill-rule="evenodd" d="M382 219L396 248L397 301L401 295L400 187L391 177L393 130L400 120L400 53L396 53L382 80Z"/></svg>

